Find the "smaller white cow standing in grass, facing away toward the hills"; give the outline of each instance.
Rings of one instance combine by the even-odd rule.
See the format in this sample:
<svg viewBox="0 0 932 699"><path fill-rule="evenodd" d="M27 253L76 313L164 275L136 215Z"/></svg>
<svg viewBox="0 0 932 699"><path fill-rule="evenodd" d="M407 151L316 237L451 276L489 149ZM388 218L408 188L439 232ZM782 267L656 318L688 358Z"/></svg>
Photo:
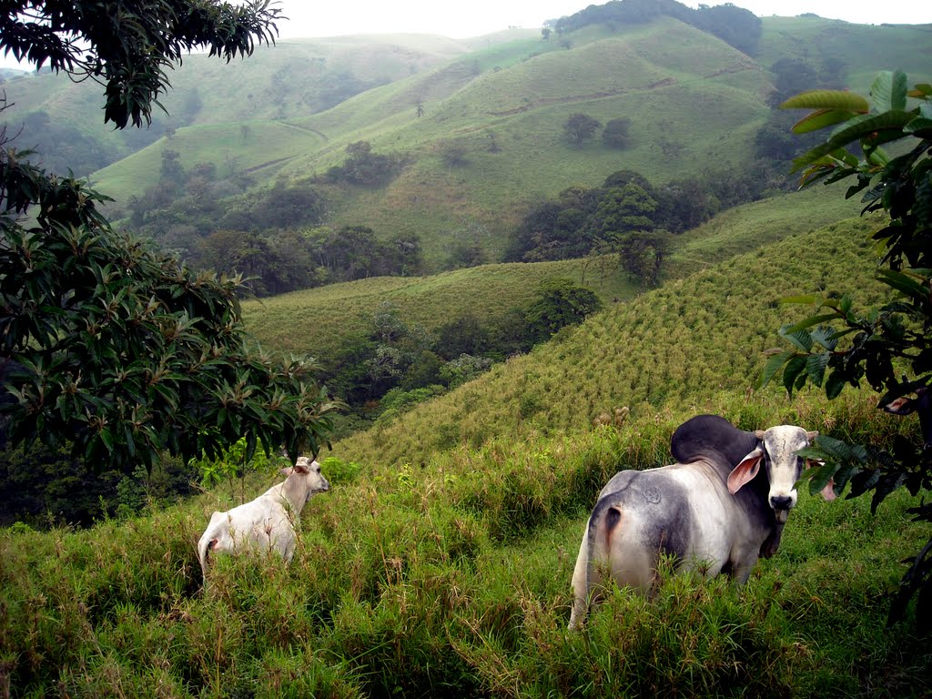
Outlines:
<svg viewBox="0 0 932 699"><path fill-rule="evenodd" d="M277 551L288 563L295 555L298 515L310 496L330 489L321 464L298 457L294 468L281 469L284 481L255 500L229 512L215 512L198 542L200 569L207 584L207 558L211 553L236 552L242 547Z"/></svg>

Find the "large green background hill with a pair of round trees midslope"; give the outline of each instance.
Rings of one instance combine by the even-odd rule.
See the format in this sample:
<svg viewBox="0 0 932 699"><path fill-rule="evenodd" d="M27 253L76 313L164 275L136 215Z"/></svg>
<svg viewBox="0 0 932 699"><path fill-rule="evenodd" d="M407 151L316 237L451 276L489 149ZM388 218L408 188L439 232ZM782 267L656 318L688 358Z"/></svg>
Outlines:
<svg viewBox="0 0 932 699"><path fill-rule="evenodd" d="M594 25L547 41L523 34L316 114L302 116L293 94L282 98L294 106L285 117L259 99L262 106L250 111L249 138L230 143L218 134L220 147L213 153L188 151L196 134L181 129L176 146L162 140L94 178L125 202L158 181L161 151L174 147L186 168L212 162L221 176L250 170L256 186L263 186L276 177L320 174L342 163L348 144L364 140L376 152L404 154L408 165L388 185L323 187L329 226L371 226L386 238L417 234L433 270L445 266L451 242L466 237L478 240L495 260L528 205L570 185L598 185L622 168L659 184L746 166L769 113L767 69L778 58L817 53L819 60L839 62L847 83L860 86L867 72L892 63L921 73L924 47L932 47L926 29L765 18L756 59L670 18ZM273 54L274 49L263 60ZM206 106L199 114L211 111ZM242 118L239 109L224 113L235 121ZM619 151L597 140L571 146L562 126L576 112L602 123L629 118L631 146ZM283 128L281 120L304 132ZM450 144L462 149L458 165L443 157Z"/></svg>

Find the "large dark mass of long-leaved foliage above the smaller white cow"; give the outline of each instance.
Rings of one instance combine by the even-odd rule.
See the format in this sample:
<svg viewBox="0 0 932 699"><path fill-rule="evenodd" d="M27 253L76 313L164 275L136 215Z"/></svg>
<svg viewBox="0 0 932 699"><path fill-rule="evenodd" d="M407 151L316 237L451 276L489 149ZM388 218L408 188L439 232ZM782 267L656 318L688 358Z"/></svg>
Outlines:
<svg viewBox="0 0 932 699"><path fill-rule="evenodd" d="M74 181L2 165L3 410L14 444L70 442L75 457L123 471L156 463L161 449L212 455L243 435L295 455L319 448L329 408L311 366L245 348L238 281L196 277L118 236L99 197ZM43 188L32 199L27 186ZM15 214L33 202L37 226L24 228Z"/></svg>

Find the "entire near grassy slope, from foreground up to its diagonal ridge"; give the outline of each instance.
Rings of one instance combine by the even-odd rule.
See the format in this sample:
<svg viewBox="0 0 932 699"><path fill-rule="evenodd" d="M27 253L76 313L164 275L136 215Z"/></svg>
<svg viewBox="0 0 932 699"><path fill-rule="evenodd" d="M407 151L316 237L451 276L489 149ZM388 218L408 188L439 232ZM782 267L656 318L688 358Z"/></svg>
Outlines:
<svg viewBox="0 0 932 699"><path fill-rule="evenodd" d="M744 588L667 577L565 631L587 509L618 468L669 458L714 411L888 444L911 432L870 396L749 394L804 281L870 296L859 219L789 236L618 305L532 354L336 445L293 565L195 543L226 489L82 532L0 533L0 686L13 696L581 697L921 695L932 646L884 628L884 594L928 536L905 494L803 493ZM812 276L816 270L818 278ZM621 428L593 410L628 404ZM325 454L323 456L331 456ZM259 492L274 476L253 483ZM912 616L910 615L910 619Z"/></svg>

